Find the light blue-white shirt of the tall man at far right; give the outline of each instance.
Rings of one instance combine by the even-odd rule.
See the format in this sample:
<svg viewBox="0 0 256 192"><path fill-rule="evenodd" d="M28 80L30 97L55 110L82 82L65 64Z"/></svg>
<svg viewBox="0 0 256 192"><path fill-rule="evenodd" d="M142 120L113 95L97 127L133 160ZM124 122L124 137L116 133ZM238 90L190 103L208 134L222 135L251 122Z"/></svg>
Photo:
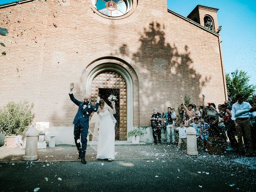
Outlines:
<svg viewBox="0 0 256 192"><path fill-rule="evenodd" d="M238 102L234 103L232 105L232 111L231 111L232 117L231 117L231 119L236 120L236 118L249 118L251 115L255 117L256 116L255 111L252 112L252 113L246 112L244 114L241 114L240 116L236 116L236 112L238 110L249 110L250 108L252 108L250 103L245 102L245 101L242 102L241 104L239 104Z"/></svg>

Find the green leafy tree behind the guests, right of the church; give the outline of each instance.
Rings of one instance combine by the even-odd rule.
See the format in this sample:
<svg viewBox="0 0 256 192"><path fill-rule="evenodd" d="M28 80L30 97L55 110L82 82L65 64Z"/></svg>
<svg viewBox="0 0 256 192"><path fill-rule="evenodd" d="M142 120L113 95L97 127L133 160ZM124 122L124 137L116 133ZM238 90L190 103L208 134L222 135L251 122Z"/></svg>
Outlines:
<svg viewBox="0 0 256 192"><path fill-rule="evenodd" d="M232 102L236 102L236 95L241 93L244 95L244 100L252 104L252 95L256 92L256 86L249 84L250 77L245 71L235 70L230 74L226 74L226 84L228 97Z"/></svg>

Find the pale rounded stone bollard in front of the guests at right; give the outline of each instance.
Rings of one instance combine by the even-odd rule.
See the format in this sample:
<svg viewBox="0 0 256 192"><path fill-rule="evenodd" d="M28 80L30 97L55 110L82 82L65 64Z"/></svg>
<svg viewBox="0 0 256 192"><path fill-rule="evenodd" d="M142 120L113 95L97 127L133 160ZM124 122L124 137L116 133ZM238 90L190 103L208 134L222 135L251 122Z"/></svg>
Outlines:
<svg viewBox="0 0 256 192"><path fill-rule="evenodd" d="M198 155L196 145L196 130L193 127L187 129L187 154Z"/></svg>

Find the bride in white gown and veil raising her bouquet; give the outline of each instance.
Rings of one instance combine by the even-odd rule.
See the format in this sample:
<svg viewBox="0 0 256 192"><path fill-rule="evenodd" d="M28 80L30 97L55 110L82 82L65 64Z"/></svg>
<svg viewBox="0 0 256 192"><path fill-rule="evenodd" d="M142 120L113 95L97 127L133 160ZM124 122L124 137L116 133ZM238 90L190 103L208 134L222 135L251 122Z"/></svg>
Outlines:
<svg viewBox="0 0 256 192"><path fill-rule="evenodd" d="M95 122L92 148L97 149L97 159L108 159L112 161L115 158L115 124L116 119L113 114L116 113L115 102L112 102L113 109L108 106L103 99L100 99L99 109L94 113L90 124ZM98 114L98 117L97 117ZM91 130L92 131L92 130ZM98 140L98 143L95 141Z"/></svg>

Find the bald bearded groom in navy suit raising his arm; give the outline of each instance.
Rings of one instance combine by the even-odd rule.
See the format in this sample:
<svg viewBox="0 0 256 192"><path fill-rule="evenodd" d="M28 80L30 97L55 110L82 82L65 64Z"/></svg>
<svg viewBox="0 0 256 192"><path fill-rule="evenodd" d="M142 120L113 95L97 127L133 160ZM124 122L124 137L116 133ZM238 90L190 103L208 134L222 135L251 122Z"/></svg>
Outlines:
<svg viewBox="0 0 256 192"><path fill-rule="evenodd" d="M74 104L78 106L78 111L73 121L74 139L75 139L76 147L79 153L78 159L81 159L81 162L83 164L86 164L86 160L84 157L85 157L86 147L87 147L89 118L90 118L90 114L93 111L96 112L98 110L100 97L97 97L96 106L91 104L89 94L84 95L84 101L78 101L73 95L73 91L72 91L73 88L74 88L74 83L71 83L69 96L72 102L74 102ZM82 148L80 145L80 135L81 135Z"/></svg>

